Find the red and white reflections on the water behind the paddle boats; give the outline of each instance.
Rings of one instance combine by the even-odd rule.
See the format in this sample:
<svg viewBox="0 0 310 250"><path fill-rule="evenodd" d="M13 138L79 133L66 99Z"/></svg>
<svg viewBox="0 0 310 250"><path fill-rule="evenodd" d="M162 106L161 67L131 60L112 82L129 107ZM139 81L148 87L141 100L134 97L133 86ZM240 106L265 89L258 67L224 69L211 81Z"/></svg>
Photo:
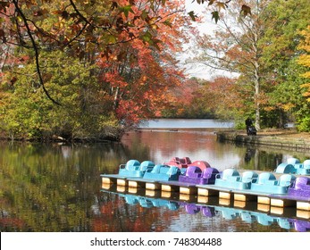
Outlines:
<svg viewBox="0 0 310 250"><path fill-rule="evenodd" d="M123 137L122 143L131 148L134 159L165 162L175 156L189 156L194 161L205 160L220 171L226 168L273 171L293 155L301 160L310 157L307 152L219 142L214 132L199 130L132 132ZM145 152L149 158L144 158Z"/></svg>

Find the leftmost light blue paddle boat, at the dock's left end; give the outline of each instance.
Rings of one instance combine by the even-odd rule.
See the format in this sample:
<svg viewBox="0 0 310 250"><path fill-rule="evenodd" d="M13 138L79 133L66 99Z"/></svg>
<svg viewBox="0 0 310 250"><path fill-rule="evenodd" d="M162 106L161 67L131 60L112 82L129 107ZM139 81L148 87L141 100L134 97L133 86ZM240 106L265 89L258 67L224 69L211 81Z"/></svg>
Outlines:
<svg viewBox="0 0 310 250"><path fill-rule="evenodd" d="M130 160L126 164L121 164L119 169L119 175L121 177L143 177L145 172L149 169L153 169L154 162L145 161L138 162L137 160Z"/></svg>

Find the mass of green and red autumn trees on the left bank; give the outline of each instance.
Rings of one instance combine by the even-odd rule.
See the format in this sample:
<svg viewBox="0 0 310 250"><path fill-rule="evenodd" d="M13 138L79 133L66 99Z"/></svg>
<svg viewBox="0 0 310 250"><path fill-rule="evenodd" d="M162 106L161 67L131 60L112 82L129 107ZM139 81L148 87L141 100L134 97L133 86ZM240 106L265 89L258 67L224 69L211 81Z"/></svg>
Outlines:
<svg viewBox="0 0 310 250"><path fill-rule="evenodd" d="M4 65L1 87L2 128L11 137L101 138L106 125L130 126L171 102L168 89L183 79L174 54L186 42L180 27L189 17L177 2L131 2L2 5L6 17L21 22L3 45L24 41L13 51L24 59Z"/></svg>

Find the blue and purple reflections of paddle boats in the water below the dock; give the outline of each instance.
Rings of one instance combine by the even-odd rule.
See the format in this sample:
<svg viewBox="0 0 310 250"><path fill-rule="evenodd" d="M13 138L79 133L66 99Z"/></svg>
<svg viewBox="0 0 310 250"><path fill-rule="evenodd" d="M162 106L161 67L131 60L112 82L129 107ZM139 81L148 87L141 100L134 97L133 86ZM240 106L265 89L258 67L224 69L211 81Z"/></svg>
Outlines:
<svg viewBox="0 0 310 250"><path fill-rule="evenodd" d="M212 204L195 204L188 203L184 201L180 201L177 199L169 200L164 199L161 196L141 196L141 195L133 195L128 193L118 193L116 192L117 187L107 187L103 188L101 192L110 193L116 196L120 196L126 204L141 206L143 208L153 208L153 207L162 207L164 209L169 209L172 211L176 211L178 209L182 209L187 214L196 215L197 213L201 213L202 216L206 218L219 217L225 221L242 221L242 223L247 224L259 224L260 226L265 226L267 229L270 226L276 226L280 229L286 230L296 230L296 231L310 231L310 221L301 220L301 219L290 219L286 217L287 214L282 214L281 216L276 216L270 214L270 212L257 212L254 208L253 211L240 209L236 207L228 207L221 205L212 205ZM137 190L138 191L138 190ZM141 190L139 190L141 191ZM214 200L211 203L215 203ZM253 204L251 204L253 205ZM238 223L238 222L237 222ZM180 230L180 229L178 229Z"/></svg>

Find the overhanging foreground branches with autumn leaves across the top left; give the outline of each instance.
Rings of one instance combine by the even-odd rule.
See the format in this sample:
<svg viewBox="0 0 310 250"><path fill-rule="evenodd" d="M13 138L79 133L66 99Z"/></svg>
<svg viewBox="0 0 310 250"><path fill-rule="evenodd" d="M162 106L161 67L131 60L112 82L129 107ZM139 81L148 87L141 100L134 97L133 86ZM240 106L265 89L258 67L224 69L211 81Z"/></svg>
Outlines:
<svg viewBox="0 0 310 250"><path fill-rule="evenodd" d="M69 47L75 53L98 47L109 56L112 46L132 40L142 40L150 46L158 47L160 40L158 23L172 27L169 18L158 9L178 1L166 0L9 0L0 2L0 38L4 44L31 48L36 59L38 80L46 96L55 104L44 85L38 55L46 46L63 49ZM180 1L179 1L180 2ZM230 1L197 0L198 4L208 4L221 9ZM249 8L242 4L241 12L247 15ZM170 13L168 13L169 15ZM189 12L192 20L194 12ZM215 21L219 11L212 12Z"/></svg>

